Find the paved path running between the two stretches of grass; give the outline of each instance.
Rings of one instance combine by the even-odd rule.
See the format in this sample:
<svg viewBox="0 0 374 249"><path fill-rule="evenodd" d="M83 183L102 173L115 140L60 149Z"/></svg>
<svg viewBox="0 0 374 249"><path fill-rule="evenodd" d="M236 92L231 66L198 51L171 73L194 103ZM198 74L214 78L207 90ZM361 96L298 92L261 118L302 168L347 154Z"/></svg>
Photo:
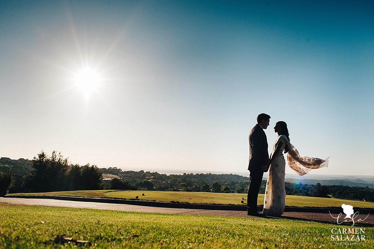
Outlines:
<svg viewBox="0 0 374 249"><path fill-rule="evenodd" d="M40 205L40 206L55 206L55 207L76 207L76 208L88 208L88 209L105 209L105 210L116 210L116 211L128 211L128 212L147 212L147 213L168 213L168 214L179 214L179 215L211 215L211 216L232 216L232 217L254 217L248 216L245 211L227 211L227 210L204 210L204 209L178 209L178 208L167 208L167 207L148 207L148 206L136 206L128 204L115 204L115 203L97 203L97 202L83 202L83 201L66 201L66 200L53 200L53 199L29 199L29 198L4 198L0 197L0 203L10 204L26 204L26 205ZM332 214L337 217L337 214ZM339 219L339 222L344 221L344 214ZM304 221L315 221L315 222L334 222L337 220L332 218L329 213L301 213L301 212L285 212L281 217L270 217L266 219L297 219ZM364 221L358 221L358 219L365 219ZM368 223L374 224L374 215L358 215L355 218L357 223ZM351 224L351 223L344 223Z"/></svg>

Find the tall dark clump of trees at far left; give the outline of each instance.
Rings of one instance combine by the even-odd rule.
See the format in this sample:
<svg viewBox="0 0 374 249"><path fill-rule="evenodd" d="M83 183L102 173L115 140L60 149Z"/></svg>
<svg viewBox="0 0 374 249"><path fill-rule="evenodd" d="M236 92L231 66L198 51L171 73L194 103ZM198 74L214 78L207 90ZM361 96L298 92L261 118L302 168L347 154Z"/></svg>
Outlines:
<svg viewBox="0 0 374 249"><path fill-rule="evenodd" d="M70 164L67 158L56 151L53 151L51 156L42 151L38 157L34 157L30 173L25 171L21 175L12 174L12 168L0 173L2 195L6 190L9 190L9 193L37 193L104 188L98 167Z"/></svg>

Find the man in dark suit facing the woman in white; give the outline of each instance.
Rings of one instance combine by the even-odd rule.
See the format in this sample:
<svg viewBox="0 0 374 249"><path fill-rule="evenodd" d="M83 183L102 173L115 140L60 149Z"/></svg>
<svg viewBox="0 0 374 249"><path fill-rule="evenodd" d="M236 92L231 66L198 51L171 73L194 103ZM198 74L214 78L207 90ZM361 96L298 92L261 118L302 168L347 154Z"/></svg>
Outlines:
<svg viewBox="0 0 374 249"><path fill-rule="evenodd" d="M263 129L269 126L270 116L261 113L257 116L257 124L249 133L249 186L248 186L248 215L261 216L257 210L257 197L264 172L268 170L269 153L267 139Z"/></svg>

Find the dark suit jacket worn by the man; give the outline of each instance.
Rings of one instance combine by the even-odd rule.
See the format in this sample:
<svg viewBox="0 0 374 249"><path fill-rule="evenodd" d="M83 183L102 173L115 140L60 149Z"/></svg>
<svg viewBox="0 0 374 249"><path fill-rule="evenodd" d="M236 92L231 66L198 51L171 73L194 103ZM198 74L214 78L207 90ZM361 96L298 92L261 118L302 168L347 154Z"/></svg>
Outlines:
<svg viewBox="0 0 374 249"><path fill-rule="evenodd" d="M269 163L266 134L260 125L256 124L249 133L249 171L262 171L261 167Z"/></svg>

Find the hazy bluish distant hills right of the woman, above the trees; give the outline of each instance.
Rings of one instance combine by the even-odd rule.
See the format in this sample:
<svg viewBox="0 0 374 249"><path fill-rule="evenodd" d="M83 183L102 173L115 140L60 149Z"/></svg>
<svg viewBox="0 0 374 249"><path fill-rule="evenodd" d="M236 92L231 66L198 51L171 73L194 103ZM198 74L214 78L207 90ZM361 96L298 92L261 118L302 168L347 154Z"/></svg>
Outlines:
<svg viewBox="0 0 374 249"><path fill-rule="evenodd" d="M321 185L343 185L343 186L350 186L350 187L366 187L374 188L374 184L371 181L364 181L361 179L349 180L349 179L335 179L335 180L316 180L316 179L294 179L294 178L286 178L285 182L291 183L302 183L302 184L317 184L321 183Z"/></svg>

